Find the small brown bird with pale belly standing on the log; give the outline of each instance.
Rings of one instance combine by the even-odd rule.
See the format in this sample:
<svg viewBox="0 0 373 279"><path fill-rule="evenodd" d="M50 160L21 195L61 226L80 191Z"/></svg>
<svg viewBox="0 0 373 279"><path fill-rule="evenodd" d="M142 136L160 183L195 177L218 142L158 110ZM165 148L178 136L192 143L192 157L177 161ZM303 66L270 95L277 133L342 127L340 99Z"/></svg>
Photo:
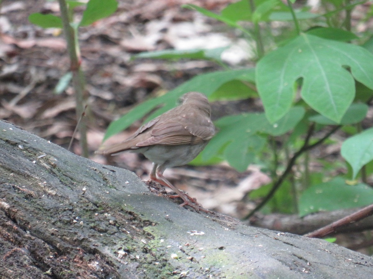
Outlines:
<svg viewBox="0 0 373 279"><path fill-rule="evenodd" d="M141 126L126 140L100 148L97 153L116 155L123 151L142 153L153 162L150 179L171 188L184 200L181 206L208 212L173 186L163 172L169 167L182 166L193 160L215 134L210 119L211 108L207 97L199 92L188 92L180 105Z"/></svg>

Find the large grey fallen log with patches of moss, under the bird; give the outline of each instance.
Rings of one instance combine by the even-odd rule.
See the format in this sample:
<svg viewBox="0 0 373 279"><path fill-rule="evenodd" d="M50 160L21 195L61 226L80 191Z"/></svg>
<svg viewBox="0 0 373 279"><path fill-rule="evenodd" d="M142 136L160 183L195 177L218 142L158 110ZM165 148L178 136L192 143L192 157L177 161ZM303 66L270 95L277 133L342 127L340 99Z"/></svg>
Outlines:
<svg viewBox="0 0 373 279"><path fill-rule="evenodd" d="M181 208L0 121L0 278L372 278L372 257Z"/></svg>

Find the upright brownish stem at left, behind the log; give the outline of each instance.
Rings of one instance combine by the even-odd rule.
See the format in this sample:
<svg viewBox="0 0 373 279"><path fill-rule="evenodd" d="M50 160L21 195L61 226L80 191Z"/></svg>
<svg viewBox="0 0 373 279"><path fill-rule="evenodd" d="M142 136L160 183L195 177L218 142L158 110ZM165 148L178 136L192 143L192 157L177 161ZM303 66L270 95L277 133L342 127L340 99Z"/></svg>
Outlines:
<svg viewBox="0 0 373 279"><path fill-rule="evenodd" d="M61 20L63 25L63 31L65 32L66 42L68 46L68 52L70 57L70 70L72 71L73 86L75 89L75 100L76 100L76 121L79 122L79 118L83 114L85 106L84 97L84 74L81 69L81 58L79 54L79 44L77 40L76 30L72 28L69 21L68 8L65 0L58 0L60 5ZM87 121L83 117L82 121L78 124L80 132L80 145L82 148L82 156L88 157L88 145L87 145Z"/></svg>

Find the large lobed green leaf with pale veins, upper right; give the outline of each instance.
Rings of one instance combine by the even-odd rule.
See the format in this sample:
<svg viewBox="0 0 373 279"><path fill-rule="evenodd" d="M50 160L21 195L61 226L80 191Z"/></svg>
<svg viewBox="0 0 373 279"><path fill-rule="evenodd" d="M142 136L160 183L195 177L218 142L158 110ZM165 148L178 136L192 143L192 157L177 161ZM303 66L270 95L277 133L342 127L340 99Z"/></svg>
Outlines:
<svg viewBox="0 0 373 279"><path fill-rule="evenodd" d="M351 73L344 68L346 65ZM364 48L301 34L257 64L256 84L266 116L275 122L289 111L294 84L302 78L303 100L320 114L340 122L354 99L354 78L373 88L372 65L373 55Z"/></svg>

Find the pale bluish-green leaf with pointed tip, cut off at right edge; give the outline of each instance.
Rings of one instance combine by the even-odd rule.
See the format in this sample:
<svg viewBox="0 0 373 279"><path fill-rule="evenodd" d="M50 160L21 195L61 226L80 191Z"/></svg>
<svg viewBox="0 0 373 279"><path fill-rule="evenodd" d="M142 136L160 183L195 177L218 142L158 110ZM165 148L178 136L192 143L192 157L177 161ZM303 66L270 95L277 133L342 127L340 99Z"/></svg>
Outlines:
<svg viewBox="0 0 373 279"><path fill-rule="evenodd" d="M355 179L361 167L373 160L373 128L345 140L341 155L351 165Z"/></svg>

